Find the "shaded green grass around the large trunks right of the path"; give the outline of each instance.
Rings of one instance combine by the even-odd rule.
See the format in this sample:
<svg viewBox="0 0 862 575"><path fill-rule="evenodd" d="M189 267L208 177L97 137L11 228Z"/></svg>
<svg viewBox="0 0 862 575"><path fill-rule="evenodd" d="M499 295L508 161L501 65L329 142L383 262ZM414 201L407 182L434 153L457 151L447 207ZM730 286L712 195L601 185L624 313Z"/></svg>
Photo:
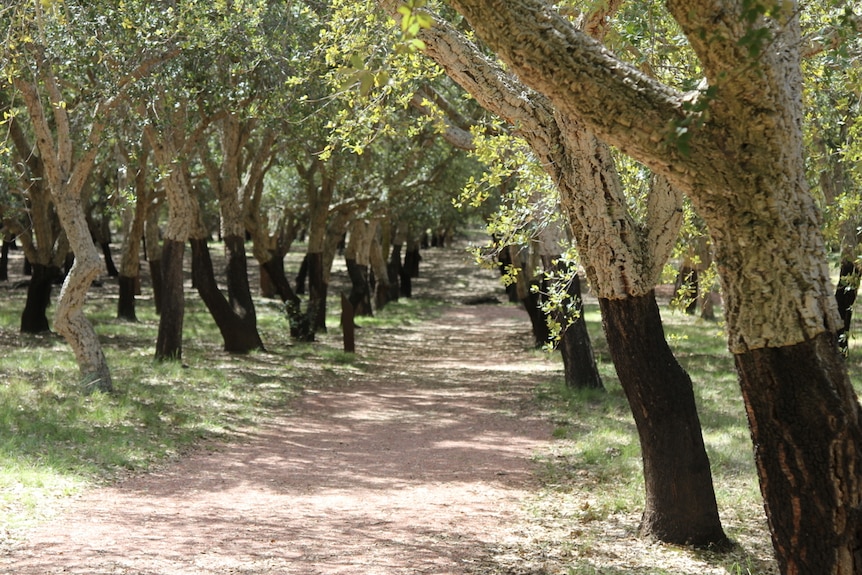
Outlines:
<svg viewBox="0 0 862 575"><path fill-rule="evenodd" d="M601 318L595 306L588 305L585 313L607 392L570 390L562 381L538 388L537 400L553 419L557 441L553 451L537 456L544 489L532 503L534 520L566 526L559 533L548 531L545 545L570 547L571 574L681 573L660 564L674 551L671 546L654 556L645 545L639 547L645 557L640 562L635 557L625 569L610 565L616 551L606 549L609 526L621 525L630 536L627 541L637 541L643 476L637 432L609 359ZM772 551L751 437L723 325L665 308L662 316L668 341L692 377L719 512L725 532L736 543L728 553L676 552L722 573L770 572ZM854 382L862 376L859 356L862 349L851 348L848 366ZM572 524L577 525L574 531Z"/></svg>

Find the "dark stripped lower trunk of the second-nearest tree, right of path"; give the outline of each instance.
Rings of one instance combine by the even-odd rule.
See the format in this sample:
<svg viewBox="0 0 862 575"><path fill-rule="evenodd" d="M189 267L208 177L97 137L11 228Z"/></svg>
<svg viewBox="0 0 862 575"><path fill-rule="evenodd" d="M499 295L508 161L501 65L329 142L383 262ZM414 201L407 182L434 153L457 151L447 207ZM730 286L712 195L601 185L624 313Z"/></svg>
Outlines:
<svg viewBox="0 0 862 575"><path fill-rule="evenodd" d="M724 544L691 378L667 345L655 292L599 304L640 438L642 534L675 544Z"/></svg>

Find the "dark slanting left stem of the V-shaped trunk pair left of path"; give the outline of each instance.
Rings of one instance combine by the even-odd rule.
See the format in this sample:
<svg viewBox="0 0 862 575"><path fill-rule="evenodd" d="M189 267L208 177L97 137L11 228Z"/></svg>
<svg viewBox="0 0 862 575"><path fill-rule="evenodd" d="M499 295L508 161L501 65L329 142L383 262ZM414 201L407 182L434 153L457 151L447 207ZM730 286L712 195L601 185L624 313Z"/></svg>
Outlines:
<svg viewBox="0 0 862 575"><path fill-rule="evenodd" d="M244 316L238 314L219 290L207 241L191 239L189 243L192 247L192 278L198 295L219 328L224 350L228 353L248 353L263 349L254 313Z"/></svg>

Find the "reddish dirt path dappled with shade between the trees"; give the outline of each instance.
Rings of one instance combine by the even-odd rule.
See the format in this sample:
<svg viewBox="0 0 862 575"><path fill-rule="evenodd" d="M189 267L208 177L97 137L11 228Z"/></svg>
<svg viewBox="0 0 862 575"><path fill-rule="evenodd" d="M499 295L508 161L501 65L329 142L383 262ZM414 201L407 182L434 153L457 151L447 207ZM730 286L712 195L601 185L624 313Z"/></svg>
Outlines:
<svg viewBox="0 0 862 575"><path fill-rule="evenodd" d="M522 311L462 305L362 340L375 359L354 375L246 440L87 493L0 572L487 573L550 438L529 399L558 367L528 332Z"/></svg>

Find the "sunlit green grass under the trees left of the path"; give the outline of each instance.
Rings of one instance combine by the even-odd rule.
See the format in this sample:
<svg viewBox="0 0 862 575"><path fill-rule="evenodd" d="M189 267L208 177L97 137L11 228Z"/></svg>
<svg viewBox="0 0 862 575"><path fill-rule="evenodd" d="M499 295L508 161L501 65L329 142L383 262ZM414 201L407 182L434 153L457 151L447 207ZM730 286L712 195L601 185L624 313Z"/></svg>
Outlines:
<svg viewBox="0 0 862 575"><path fill-rule="evenodd" d="M9 294L0 306L0 533L49 518L69 495L151 469L202 439L229 440L307 380L292 363L312 347L291 345L283 316L266 305L261 331L279 353L231 357L206 310L188 298L180 363L153 361L158 319L149 306L139 305L139 321L129 323L114 319L114 300L94 300L88 316L115 392L83 395L59 337L17 333L23 294Z"/></svg>

